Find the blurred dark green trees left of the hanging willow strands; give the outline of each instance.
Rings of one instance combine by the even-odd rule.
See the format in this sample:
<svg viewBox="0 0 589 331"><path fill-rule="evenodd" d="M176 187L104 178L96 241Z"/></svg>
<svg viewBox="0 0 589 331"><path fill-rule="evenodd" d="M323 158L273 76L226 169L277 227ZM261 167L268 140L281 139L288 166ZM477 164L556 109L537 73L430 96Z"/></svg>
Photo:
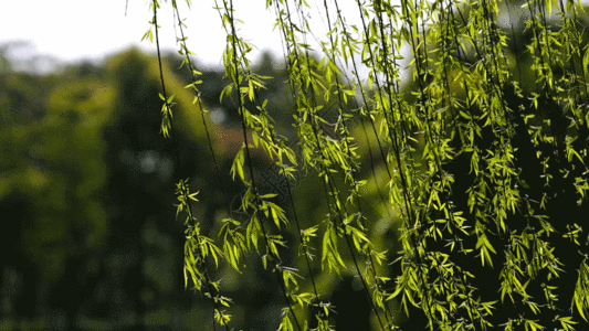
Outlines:
<svg viewBox="0 0 589 331"><path fill-rule="evenodd" d="M0 329L191 329L172 179L211 170L180 111L188 93L181 167L160 139L157 71L130 50L103 67L0 76Z"/></svg>

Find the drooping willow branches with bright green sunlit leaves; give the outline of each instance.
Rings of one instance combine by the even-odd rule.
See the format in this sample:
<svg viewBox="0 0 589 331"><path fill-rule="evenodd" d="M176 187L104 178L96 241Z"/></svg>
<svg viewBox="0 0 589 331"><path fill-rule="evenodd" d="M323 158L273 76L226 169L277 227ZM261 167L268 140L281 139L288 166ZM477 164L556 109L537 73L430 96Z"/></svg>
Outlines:
<svg viewBox="0 0 589 331"><path fill-rule="evenodd" d="M266 1L296 109L286 117L296 128L291 139L260 96L272 77L252 70L253 45L240 32L253 22L232 0L213 3L227 33L231 83L222 97L234 96L243 138L230 173L218 177L230 175L244 191L238 209L228 203L227 217L203 231L194 216L198 181L177 184L185 277L212 307L209 328L233 328L232 300L215 269L241 271L252 256L276 278L280 330L346 327L333 325L338 308L322 282L339 273L359 281L366 301L357 305L370 309L375 330L587 328L582 4L378 0L343 11L340 3ZM186 87L203 114L214 105L199 98L183 7L151 1L145 38L159 54L160 6L178 19L179 52L193 77ZM327 34L313 33L311 13L323 18ZM359 24L347 23L353 15ZM161 132L170 139L173 93L162 78ZM267 173L252 161L260 150L281 192L262 184ZM212 148L210 159L219 169ZM295 190L303 173L313 185ZM309 195L324 213L301 212L296 201ZM396 242L383 239L382 228L395 228Z"/></svg>

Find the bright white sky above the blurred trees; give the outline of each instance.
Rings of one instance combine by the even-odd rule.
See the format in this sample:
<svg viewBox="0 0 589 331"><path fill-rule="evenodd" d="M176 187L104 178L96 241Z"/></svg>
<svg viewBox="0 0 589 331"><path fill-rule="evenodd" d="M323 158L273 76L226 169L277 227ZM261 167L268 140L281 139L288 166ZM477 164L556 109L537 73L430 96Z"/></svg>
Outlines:
<svg viewBox="0 0 589 331"><path fill-rule="evenodd" d="M162 1L162 0L160 0ZM314 2L315 1L315 2ZM53 57L62 62L90 58L99 61L130 45L139 45L146 51L155 51L154 44L140 42L149 29L151 12L148 0L129 0L125 15L125 0L10 0L3 1L0 12L0 46L7 42L28 42L29 46L13 47L9 54L23 61ZM164 2L164 1L162 1ZM312 7L323 4L323 0L308 1ZM339 1L358 17L355 0ZM225 45L224 30L213 0L192 0L188 10L186 1L178 0L180 14L187 18L188 47L199 60L209 65L222 65ZM222 0L219 0L222 3ZM264 0L234 0L236 18L244 21L240 35L251 41L260 50L272 50L282 54L278 30L273 31L274 12L265 9ZM160 43L165 50L177 50L169 3L162 3L158 11ZM312 12L313 13L313 12ZM314 19L314 20L313 20ZM315 10L312 20L318 26L319 38L325 38L322 19ZM254 54L256 54L254 52ZM48 62L48 60L45 60ZM34 70L34 68L29 68ZM42 70L42 66L41 68Z"/></svg>

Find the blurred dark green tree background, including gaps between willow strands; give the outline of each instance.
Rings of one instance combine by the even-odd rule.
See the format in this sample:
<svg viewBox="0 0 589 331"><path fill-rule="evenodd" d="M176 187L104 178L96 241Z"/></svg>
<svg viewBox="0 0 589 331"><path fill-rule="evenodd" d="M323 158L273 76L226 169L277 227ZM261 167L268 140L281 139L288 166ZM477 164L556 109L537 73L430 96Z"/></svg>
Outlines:
<svg viewBox="0 0 589 331"><path fill-rule="evenodd" d="M178 162L171 139L159 134L156 57L130 49L102 64L70 64L43 75L14 71L14 63L2 57L0 330L212 330L210 303L185 289L185 235L182 221L176 220L175 183L190 178L191 188L201 191L194 211L204 233L215 239L228 206L199 109L183 88L190 76L186 67L178 68L180 63L175 55L165 57L167 89L177 103ZM293 138L295 109L284 65L270 53L257 63L257 73L274 77L262 97L269 99L277 130ZM222 185L236 210L244 192L229 177L242 141L236 107L231 98L219 104L229 83L222 71L199 70ZM294 138L291 143L296 147ZM367 154L366 147L360 152ZM262 153L256 158L263 190L284 191L272 163ZM295 183L307 192L295 192L297 213L308 216L303 226L322 220L326 211L308 194L313 185L312 174L304 172ZM282 196L280 203L292 213L285 202ZM379 215L377 220L390 215L377 205L375 199L367 213ZM390 224L390 218L377 222L385 246L392 244ZM286 264L303 265L297 249L285 256L291 259ZM234 301L232 325L275 330L284 298L259 256L249 259L242 274L229 267L213 271L222 293ZM322 273L318 266L315 273ZM341 320L338 330L349 323L368 328L370 313L366 305L357 305L366 299L359 282L346 271L319 279L322 292L339 290L332 298Z"/></svg>

